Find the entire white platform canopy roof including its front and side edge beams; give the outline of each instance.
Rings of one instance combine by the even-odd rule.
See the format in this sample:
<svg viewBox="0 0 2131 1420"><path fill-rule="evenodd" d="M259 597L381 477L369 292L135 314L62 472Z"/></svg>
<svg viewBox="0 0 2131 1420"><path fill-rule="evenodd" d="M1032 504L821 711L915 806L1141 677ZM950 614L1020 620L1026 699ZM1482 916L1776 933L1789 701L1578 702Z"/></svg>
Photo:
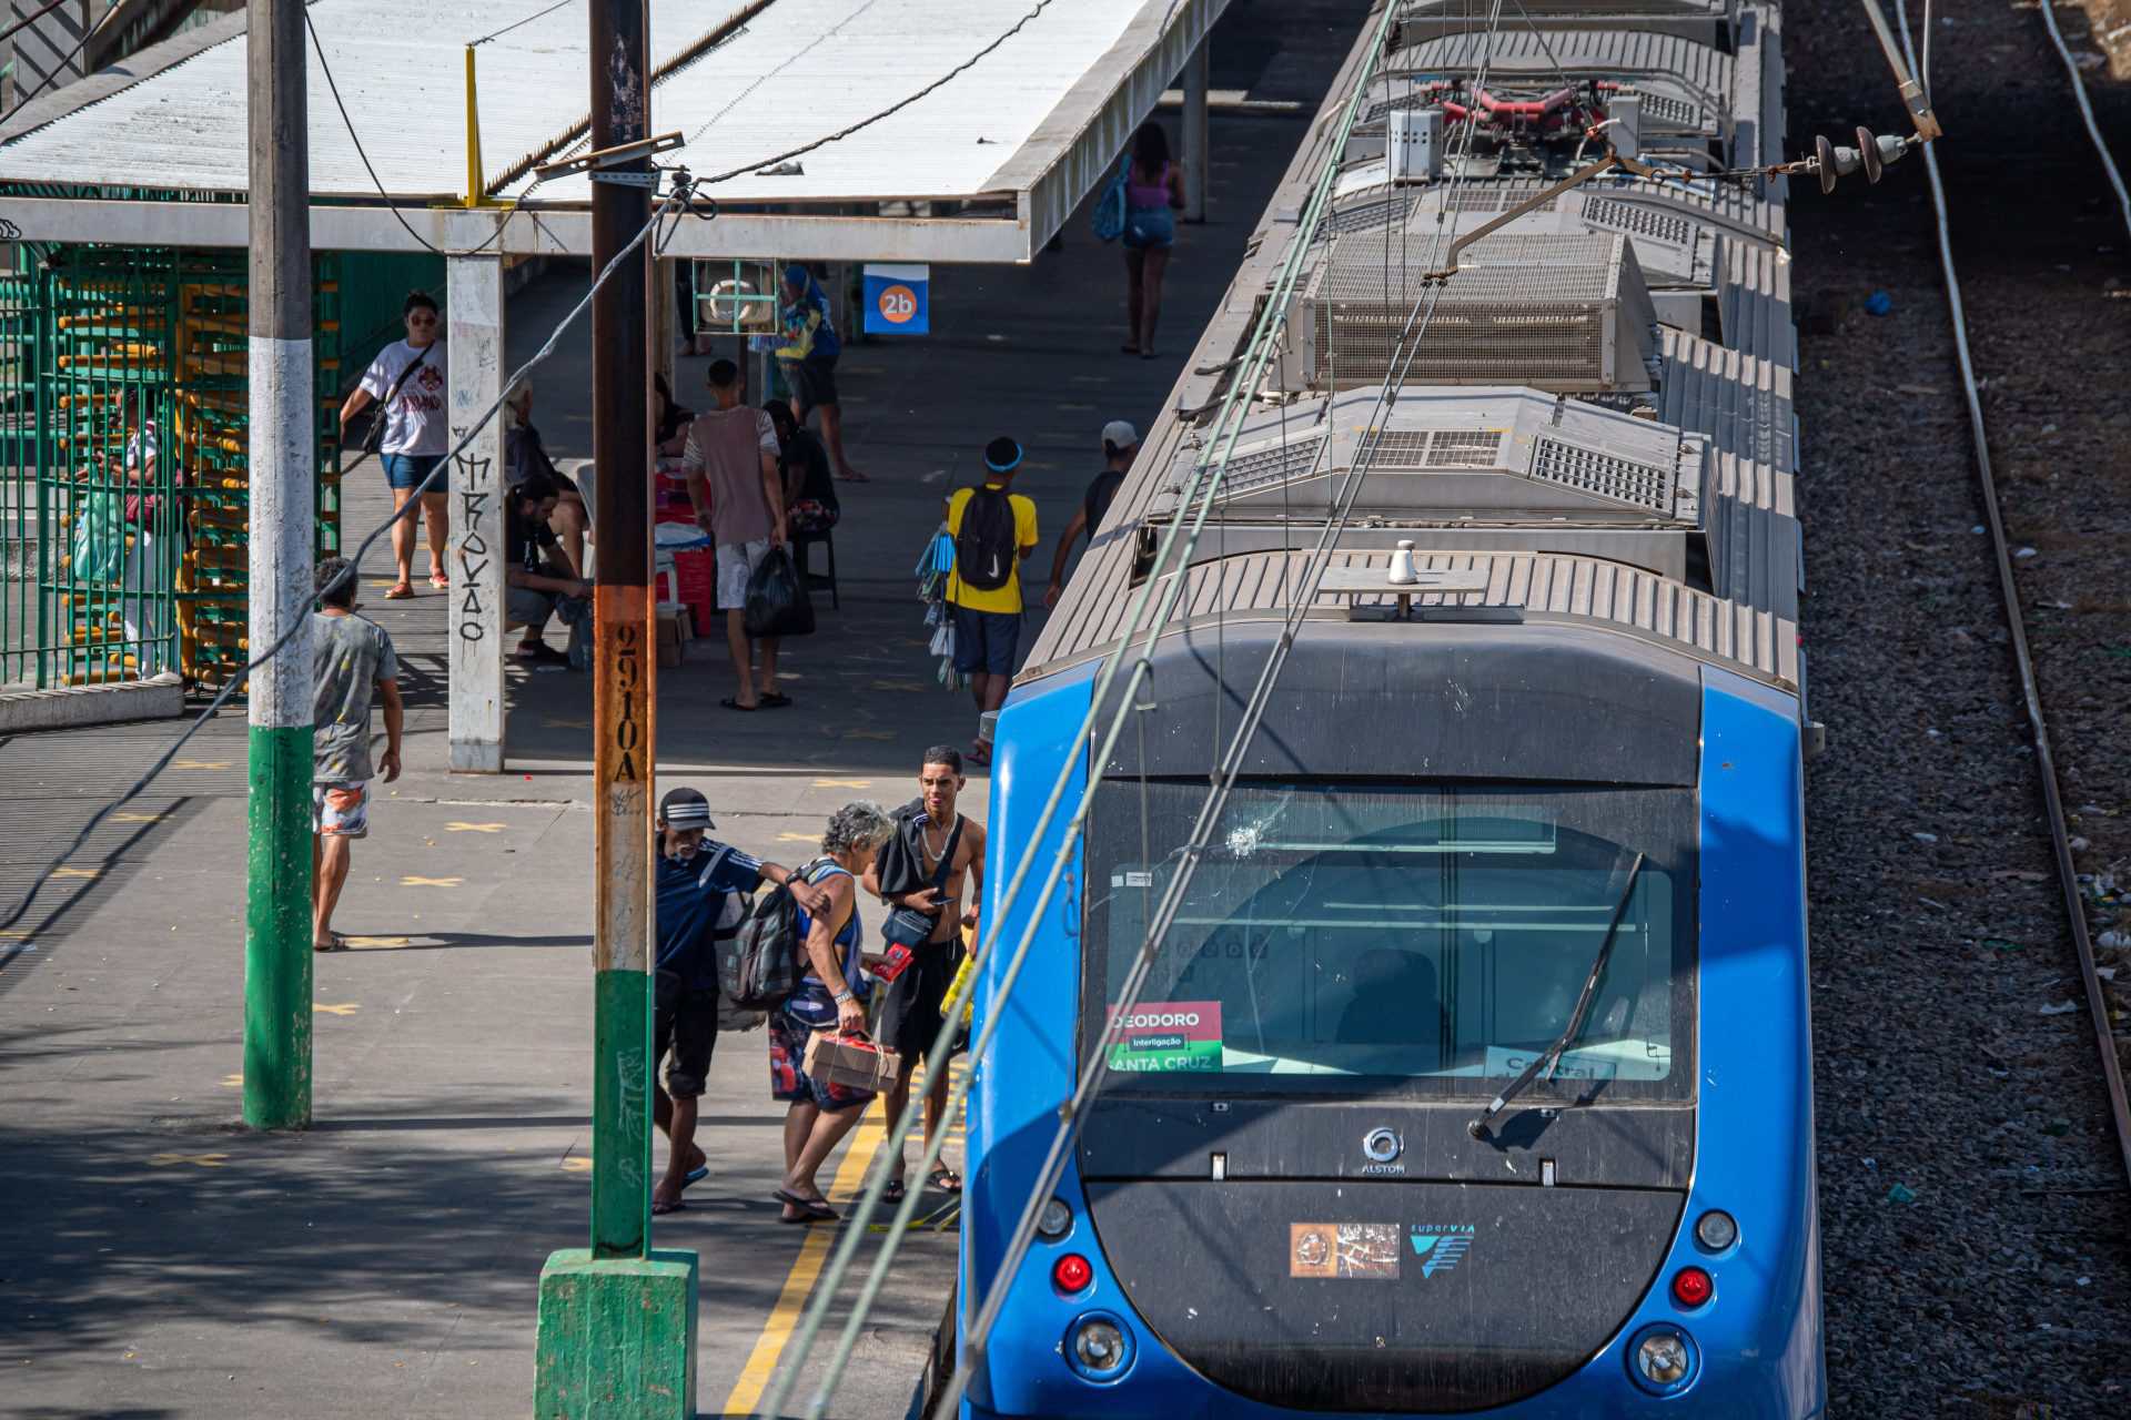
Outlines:
<svg viewBox="0 0 2131 1420"><path fill-rule="evenodd" d="M362 138L358 151L307 49L313 243L413 247L379 185L439 247L494 234L503 211L458 207L473 45L484 196L528 202L501 247L588 251L590 181L533 175L586 147L586 4L313 0ZM654 0L648 132L684 134L656 162L720 177L701 192L733 209L680 224L667 251L1029 260L1225 4ZM43 100L0 147L0 217L32 241L245 245L245 60L232 17L143 51L126 66L136 79L107 70Z"/></svg>

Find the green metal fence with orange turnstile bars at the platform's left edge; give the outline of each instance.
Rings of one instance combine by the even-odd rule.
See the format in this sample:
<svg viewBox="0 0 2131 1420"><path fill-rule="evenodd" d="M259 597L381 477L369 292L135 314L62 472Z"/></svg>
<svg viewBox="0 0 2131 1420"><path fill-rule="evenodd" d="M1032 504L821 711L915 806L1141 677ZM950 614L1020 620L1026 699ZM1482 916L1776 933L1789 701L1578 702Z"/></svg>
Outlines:
<svg viewBox="0 0 2131 1420"><path fill-rule="evenodd" d="M0 275L0 686L162 671L222 683L249 654L245 253L13 255ZM339 549L341 392L396 332L405 290L441 266L318 258L320 554Z"/></svg>

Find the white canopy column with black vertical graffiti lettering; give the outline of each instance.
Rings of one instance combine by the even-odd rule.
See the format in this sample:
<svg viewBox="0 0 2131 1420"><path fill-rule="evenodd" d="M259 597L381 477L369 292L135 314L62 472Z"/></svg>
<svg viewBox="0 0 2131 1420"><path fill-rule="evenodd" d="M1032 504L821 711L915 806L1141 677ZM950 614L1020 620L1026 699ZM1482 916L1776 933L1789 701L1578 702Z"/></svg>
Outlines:
<svg viewBox="0 0 2131 1420"><path fill-rule="evenodd" d="M452 445L503 396L503 260L450 260ZM503 430L490 419L452 468L452 769L503 771Z"/></svg>

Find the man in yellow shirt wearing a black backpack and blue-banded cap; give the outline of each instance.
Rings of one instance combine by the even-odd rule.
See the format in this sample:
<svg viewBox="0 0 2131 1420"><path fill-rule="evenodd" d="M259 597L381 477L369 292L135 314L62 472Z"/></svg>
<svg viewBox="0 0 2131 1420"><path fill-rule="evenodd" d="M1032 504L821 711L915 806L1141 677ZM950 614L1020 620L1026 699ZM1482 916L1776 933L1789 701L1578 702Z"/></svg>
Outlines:
<svg viewBox="0 0 2131 1420"><path fill-rule="evenodd" d="M1036 551L1036 505L1016 492L1021 445L993 439L985 445L985 485L959 488L946 500L946 530L955 539L955 571L946 600L955 609L955 668L970 677L976 696L976 743L970 758L991 762L985 713L1006 703L1021 647L1021 560Z"/></svg>

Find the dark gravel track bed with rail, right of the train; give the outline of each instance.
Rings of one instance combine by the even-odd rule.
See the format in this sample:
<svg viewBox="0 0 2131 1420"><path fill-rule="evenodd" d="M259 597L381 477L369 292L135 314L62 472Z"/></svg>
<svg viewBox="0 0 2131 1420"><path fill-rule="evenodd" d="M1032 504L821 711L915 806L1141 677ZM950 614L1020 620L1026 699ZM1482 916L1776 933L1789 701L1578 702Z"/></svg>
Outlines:
<svg viewBox="0 0 2131 1420"><path fill-rule="evenodd" d="M1792 134L1880 119L1856 9L1801 19ZM1831 1414L2118 1414L2127 236L2033 9L1933 23L1973 370L1922 168L1794 204Z"/></svg>

